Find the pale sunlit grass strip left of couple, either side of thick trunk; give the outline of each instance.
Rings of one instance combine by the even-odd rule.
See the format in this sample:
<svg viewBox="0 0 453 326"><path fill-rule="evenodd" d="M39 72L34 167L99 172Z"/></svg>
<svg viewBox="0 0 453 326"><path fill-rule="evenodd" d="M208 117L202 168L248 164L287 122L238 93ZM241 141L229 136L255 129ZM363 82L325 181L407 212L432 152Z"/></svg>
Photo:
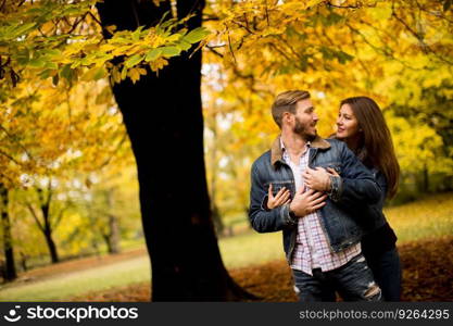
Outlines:
<svg viewBox="0 0 453 326"><path fill-rule="evenodd" d="M280 234L243 234L219 241L227 268L250 265L251 255L260 264L284 258ZM259 248L266 247L259 254ZM125 260L106 266L75 271L33 283L14 283L0 289L0 301L58 301L90 291L102 291L118 286L150 281L148 256Z"/></svg>

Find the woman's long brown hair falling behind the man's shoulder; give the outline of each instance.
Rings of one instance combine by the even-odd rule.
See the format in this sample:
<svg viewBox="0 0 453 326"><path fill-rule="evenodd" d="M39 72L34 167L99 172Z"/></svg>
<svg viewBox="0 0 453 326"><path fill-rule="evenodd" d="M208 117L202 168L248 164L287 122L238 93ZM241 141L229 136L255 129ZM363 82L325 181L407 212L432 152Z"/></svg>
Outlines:
<svg viewBox="0 0 453 326"><path fill-rule="evenodd" d="M378 104L367 97L348 98L341 101L340 108L343 104L351 106L362 129L358 142L361 148L352 150L361 153L358 158L365 165L376 167L385 175L388 186L387 197L393 198L399 185L400 164L382 112Z"/></svg>

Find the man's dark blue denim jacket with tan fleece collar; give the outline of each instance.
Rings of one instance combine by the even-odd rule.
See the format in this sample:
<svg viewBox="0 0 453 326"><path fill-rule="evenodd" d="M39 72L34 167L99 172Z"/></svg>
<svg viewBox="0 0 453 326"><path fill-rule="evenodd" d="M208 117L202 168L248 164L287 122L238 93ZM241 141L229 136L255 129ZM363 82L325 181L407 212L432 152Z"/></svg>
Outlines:
<svg viewBox="0 0 453 326"><path fill-rule="evenodd" d="M363 235L363 228L357 223L361 214L352 209L357 203L377 203L380 188L372 173L345 143L336 139L316 137L311 142L309 166L332 167L340 174L340 177L331 177L332 189L328 193L326 205L320 209L320 224L330 249L339 252L358 242ZM259 233L282 230L284 249L287 260L290 261L295 246L298 218L289 214L289 204L266 210L264 203L270 183L274 195L286 187L290 190L291 198L294 197L294 177L290 166L282 160L280 137L252 165L249 218Z"/></svg>

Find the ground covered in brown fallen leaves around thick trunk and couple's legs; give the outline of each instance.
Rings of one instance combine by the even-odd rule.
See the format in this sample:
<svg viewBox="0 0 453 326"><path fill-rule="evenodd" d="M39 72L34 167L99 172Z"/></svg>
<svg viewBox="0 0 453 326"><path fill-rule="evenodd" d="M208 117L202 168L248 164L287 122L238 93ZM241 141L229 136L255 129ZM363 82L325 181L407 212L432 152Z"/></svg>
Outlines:
<svg viewBox="0 0 453 326"><path fill-rule="evenodd" d="M406 243L399 248L403 264L403 301L453 301L453 237ZM261 301L297 301L285 261L230 271L236 281ZM149 284L93 292L73 301L149 301Z"/></svg>

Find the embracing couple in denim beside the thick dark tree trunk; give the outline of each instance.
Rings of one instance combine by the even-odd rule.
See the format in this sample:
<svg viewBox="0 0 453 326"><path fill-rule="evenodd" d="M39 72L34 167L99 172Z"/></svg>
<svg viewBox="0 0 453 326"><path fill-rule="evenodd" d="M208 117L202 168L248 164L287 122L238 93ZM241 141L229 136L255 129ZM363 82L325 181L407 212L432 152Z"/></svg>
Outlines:
<svg viewBox="0 0 453 326"><path fill-rule="evenodd" d="M282 230L300 300L399 301L397 237L382 205L400 170L376 102L343 100L332 139L317 136L307 91L278 95L272 114L281 134L253 163L249 217L259 233Z"/></svg>

